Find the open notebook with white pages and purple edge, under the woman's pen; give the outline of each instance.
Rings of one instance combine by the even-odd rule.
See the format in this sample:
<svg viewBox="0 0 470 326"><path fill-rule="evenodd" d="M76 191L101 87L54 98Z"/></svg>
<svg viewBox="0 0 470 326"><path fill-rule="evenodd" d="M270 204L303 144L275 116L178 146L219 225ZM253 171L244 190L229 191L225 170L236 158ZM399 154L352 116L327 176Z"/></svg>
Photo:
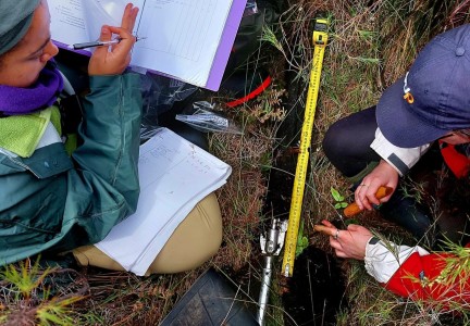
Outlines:
<svg viewBox="0 0 470 326"><path fill-rule="evenodd" d="M59 47L97 40L103 24L121 26L128 0L48 0ZM139 40L131 65L218 90L246 0L134 0ZM89 51L77 51L90 54Z"/></svg>

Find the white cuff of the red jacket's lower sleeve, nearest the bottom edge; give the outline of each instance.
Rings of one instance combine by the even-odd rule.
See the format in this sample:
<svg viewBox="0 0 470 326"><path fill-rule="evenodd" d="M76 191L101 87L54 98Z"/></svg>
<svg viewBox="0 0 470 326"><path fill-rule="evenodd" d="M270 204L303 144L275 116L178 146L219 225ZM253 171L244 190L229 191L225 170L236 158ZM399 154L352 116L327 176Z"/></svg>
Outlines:
<svg viewBox="0 0 470 326"><path fill-rule="evenodd" d="M387 283L399 266L415 252L429 254L421 247L398 246L372 237L366 246L366 271L380 283Z"/></svg>

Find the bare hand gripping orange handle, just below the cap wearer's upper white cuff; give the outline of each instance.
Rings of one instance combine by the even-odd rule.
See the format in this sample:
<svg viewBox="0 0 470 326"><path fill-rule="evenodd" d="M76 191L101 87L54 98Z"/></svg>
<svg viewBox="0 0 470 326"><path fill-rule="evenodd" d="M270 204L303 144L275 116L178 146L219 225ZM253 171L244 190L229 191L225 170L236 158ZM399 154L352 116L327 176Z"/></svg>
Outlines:
<svg viewBox="0 0 470 326"><path fill-rule="evenodd" d="M375 193L381 186L386 186L396 189L398 185L398 172L389 165L386 161L382 160L379 165L368 174L362 183L357 187L355 192L355 201L360 210L372 210L372 204L380 204L386 202L393 192L382 199L378 199Z"/></svg>

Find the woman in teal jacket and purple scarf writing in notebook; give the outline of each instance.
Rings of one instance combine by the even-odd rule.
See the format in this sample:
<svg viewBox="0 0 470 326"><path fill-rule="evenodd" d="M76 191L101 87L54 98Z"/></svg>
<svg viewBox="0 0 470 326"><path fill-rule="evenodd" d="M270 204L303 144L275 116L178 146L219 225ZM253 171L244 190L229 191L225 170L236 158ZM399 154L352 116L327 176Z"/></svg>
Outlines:
<svg viewBox="0 0 470 326"><path fill-rule="evenodd" d="M125 72L137 11L127 4L121 27L101 28L100 40L122 40L97 48L89 61L90 89L71 149L63 137L66 108L59 106L73 90L52 60L59 50L51 41L47 1L1 1L1 265L72 252L82 265L122 269L92 243L136 210L139 196L140 85ZM148 273L200 265L219 249L221 229L211 195L180 225Z"/></svg>

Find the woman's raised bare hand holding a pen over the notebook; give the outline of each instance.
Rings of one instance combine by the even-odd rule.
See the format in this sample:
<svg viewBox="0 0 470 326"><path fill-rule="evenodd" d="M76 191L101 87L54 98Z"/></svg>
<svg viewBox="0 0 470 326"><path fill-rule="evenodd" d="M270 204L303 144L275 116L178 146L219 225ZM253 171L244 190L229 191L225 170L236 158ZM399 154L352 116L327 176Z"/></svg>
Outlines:
<svg viewBox="0 0 470 326"><path fill-rule="evenodd" d="M88 64L88 74L92 75L119 75L124 72L131 62L131 50L136 41L132 35L137 17L138 8L128 3L124 10L121 27L102 26L100 40L109 41L113 35L118 35L121 41L109 47L99 47L95 50Z"/></svg>

